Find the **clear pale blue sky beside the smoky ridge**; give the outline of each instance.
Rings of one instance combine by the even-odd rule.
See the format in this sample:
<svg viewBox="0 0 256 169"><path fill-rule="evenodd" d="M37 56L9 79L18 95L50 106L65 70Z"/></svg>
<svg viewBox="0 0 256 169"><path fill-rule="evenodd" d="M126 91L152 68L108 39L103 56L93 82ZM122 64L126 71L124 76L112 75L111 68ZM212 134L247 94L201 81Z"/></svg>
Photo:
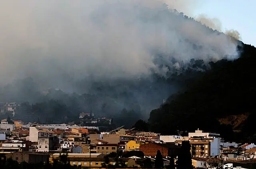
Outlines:
<svg viewBox="0 0 256 169"><path fill-rule="evenodd" d="M198 1L194 15L218 18L223 30L238 30L244 43L256 46L256 0Z"/></svg>

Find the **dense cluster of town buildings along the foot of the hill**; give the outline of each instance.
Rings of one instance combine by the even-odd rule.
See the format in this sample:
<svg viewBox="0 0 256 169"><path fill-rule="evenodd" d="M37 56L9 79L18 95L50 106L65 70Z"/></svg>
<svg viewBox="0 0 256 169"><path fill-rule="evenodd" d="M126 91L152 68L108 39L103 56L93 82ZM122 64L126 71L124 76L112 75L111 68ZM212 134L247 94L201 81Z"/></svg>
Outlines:
<svg viewBox="0 0 256 169"><path fill-rule="evenodd" d="M125 129L124 126L100 132L95 126L24 125L21 120L13 120L10 124L3 119L0 124L0 153L19 163L52 163L60 160L60 153L68 153L71 165L101 167L106 161L105 156L116 153L127 167L143 167L143 161L154 163L160 150L167 166L172 158L174 161L178 158L182 141L189 141L191 145L194 167L209 168L218 161L232 166L256 162L256 145L253 143L227 143L220 134L199 129L180 136ZM109 164L115 165L116 158L110 158Z"/></svg>

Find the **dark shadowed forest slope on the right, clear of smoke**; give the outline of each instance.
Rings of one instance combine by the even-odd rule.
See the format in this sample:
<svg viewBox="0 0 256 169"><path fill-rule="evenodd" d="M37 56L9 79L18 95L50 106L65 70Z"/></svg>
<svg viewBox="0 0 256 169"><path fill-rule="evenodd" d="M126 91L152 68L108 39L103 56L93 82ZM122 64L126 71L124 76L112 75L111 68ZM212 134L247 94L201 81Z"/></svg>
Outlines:
<svg viewBox="0 0 256 169"><path fill-rule="evenodd" d="M211 69L186 81L186 89L171 95L165 104L150 113L152 131L177 134L179 131L204 131L221 133L227 141L256 141L255 95L256 48L238 46L240 58L234 61L219 60L210 63ZM246 114L246 118L221 119Z"/></svg>

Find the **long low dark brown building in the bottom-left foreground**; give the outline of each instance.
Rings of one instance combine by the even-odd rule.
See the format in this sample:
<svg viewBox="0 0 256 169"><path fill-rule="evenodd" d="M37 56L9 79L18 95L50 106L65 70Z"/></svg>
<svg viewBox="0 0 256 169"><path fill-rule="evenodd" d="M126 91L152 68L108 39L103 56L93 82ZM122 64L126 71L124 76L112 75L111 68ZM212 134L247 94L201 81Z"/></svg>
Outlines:
<svg viewBox="0 0 256 169"><path fill-rule="evenodd" d="M12 159L21 163L25 161L26 163L46 163L49 160L49 153L31 153L31 152L14 152L6 154L6 159Z"/></svg>

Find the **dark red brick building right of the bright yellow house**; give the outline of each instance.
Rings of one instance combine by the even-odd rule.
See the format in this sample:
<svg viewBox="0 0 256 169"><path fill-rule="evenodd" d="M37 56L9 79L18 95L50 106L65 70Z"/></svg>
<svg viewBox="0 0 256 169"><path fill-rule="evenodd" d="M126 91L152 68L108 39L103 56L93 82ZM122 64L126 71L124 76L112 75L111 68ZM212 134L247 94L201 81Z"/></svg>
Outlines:
<svg viewBox="0 0 256 169"><path fill-rule="evenodd" d="M160 150L163 156L168 155L168 148L162 147L161 145L148 143L144 145L140 145L140 151L144 153L144 155L155 157L157 151Z"/></svg>

